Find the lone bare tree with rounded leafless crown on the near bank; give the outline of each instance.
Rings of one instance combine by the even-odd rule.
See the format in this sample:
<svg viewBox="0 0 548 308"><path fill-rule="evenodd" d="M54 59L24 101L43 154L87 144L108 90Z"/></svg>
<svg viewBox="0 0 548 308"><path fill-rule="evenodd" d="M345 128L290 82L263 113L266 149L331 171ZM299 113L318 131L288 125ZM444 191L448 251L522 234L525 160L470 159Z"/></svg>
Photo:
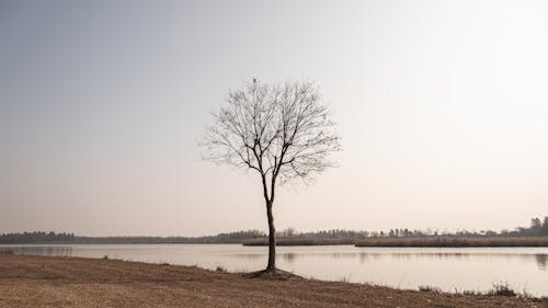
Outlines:
<svg viewBox="0 0 548 308"><path fill-rule="evenodd" d="M329 153L340 150L334 123L319 89L309 81L264 84L255 79L230 91L227 104L214 113L214 124L201 142L205 159L254 170L261 178L269 219L269 264L276 267L272 205L278 184L313 176L332 167Z"/></svg>

